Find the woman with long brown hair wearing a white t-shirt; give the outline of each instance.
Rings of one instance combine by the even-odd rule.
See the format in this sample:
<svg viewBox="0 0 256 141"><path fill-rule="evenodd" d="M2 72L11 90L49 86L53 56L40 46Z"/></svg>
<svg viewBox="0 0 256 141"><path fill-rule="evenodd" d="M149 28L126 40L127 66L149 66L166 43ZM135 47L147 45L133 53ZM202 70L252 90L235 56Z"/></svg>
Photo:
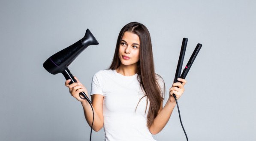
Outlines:
<svg viewBox="0 0 256 141"><path fill-rule="evenodd" d="M87 89L77 83L65 85L81 102L87 123L93 113L89 103L79 97ZM179 78L169 89L163 107L165 84L155 74L151 38L148 29L138 22L126 24L120 31L111 66L93 75L91 98L94 112L93 130L104 127L105 141L155 141L168 122L177 99L184 93L186 80Z"/></svg>

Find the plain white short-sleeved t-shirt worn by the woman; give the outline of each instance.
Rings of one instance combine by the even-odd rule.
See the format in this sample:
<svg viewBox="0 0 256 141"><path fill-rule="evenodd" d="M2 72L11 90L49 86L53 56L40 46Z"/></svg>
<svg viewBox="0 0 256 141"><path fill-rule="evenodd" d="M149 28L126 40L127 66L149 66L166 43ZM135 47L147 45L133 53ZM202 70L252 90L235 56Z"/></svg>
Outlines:
<svg viewBox="0 0 256 141"><path fill-rule="evenodd" d="M100 70L93 75L90 95L104 96L104 141L156 141L147 126L149 101L147 110L146 96L139 102L144 93L137 75L124 76L111 69ZM156 78L163 97L163 79Z"/></svg>

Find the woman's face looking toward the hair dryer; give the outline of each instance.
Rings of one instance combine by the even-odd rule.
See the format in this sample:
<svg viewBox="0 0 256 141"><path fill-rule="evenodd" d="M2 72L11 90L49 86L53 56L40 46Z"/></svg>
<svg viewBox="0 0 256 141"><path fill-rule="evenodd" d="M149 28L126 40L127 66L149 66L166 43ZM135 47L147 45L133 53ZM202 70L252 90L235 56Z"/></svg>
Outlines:
<svg viewBox="0 0 256 141"><path fill-rule="evenodd" d="M119 59L123 65L136 65L139 61L139 36L126 31L119 46Z"/></svg>

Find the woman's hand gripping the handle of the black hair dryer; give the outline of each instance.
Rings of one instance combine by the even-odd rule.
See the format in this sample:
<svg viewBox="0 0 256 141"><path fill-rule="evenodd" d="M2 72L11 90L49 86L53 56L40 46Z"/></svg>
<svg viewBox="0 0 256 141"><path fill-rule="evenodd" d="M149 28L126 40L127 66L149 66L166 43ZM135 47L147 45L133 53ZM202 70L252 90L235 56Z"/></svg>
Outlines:
<svg viewBox="0 0 256 141"><path fill-rule="evenodd" d="M65 82L65 86L69 87L69 93L71 93L71 96L75 97L75 99L77 99L80 102L86 102L86 99L81 99L81 97L79 96L79 93L84 92L86 94L86 96L88 97L88 92L86 87L84 87L83 84L80 83L80 81L74 76L75 80L77 82L72 83L69 85L69 82L71 81L70 79L68 79ZM83 97L83 96L82 96Z"/></svg>

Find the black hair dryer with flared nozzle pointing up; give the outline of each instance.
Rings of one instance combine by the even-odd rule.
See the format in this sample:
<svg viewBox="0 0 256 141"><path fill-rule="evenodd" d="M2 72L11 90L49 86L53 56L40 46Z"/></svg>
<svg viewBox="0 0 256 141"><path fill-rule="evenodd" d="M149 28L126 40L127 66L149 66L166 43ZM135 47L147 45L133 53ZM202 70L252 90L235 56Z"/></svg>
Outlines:
<svg viewBox="0 0 256 141"><path fill-rule="evenodd" d="M87 29L82 39L49 57L45 61L45 63L43 63L43 66L48 72L53 75L56 75L57 73L62 73L66 80L71 79L69 84L75 83L76 80L69 71L68 66L89 45L98 44L99 42L95 39L90 30ZM81 97L81 99L86 99L89 103L91 103L90 99L86 96L84 92L79 93L79 96Z"/></svg>

